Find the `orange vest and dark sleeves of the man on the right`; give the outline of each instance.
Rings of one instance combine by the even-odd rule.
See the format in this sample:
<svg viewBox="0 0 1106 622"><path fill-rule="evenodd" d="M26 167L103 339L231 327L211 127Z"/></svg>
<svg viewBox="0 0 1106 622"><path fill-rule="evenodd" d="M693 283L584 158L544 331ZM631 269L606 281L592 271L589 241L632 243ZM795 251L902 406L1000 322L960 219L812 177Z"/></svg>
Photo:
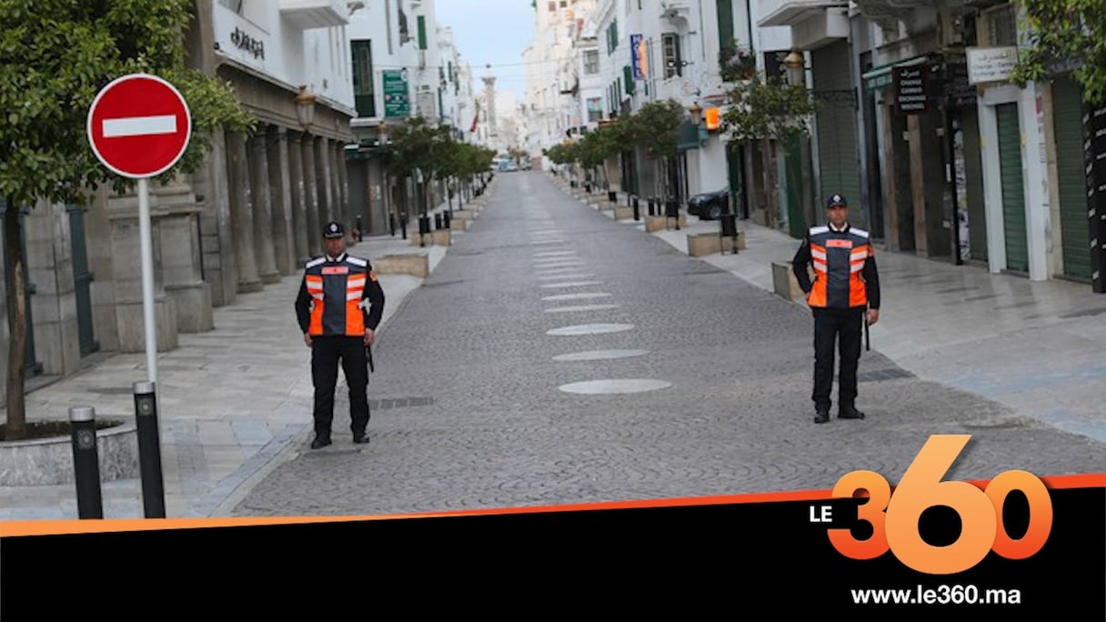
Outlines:
<svg viewBox="0 0 1106 622"><path fill-rule="evenodd" d="M813 281L807 265L814 269ZM876 256L864 229L812 227L792 260L792 269L812 308L879 309Z"/></svg>

